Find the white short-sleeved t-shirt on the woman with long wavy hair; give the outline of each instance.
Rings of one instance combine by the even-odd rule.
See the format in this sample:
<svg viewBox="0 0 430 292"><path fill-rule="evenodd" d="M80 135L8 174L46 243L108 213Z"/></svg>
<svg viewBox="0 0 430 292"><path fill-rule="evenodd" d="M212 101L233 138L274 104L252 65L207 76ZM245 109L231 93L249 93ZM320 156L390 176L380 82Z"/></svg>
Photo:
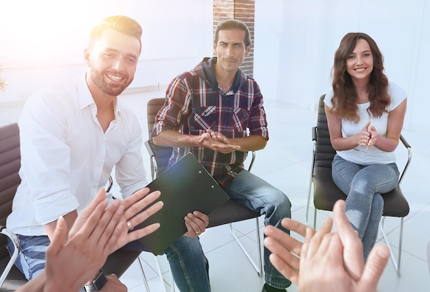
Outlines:
<svg viewBox="0 0 430 292"><path fill-rule="evenodd" d="M333 91L330 90L324 98L324 103L332 108L331 98ZM391 97L391 103L388 106L388 111L396 109L396 107L407 98L405 91L393 82L389 82L388 94ZM342 119L341 130L342 137L350 137L356 135L363 129L363 126L370 121L371 125L376 128L379 135L385 136L387 134L387 122L388 113L383 113L381 117L373 117L367 113L367 108L370 106L370 102L364 104L357 104L359 106L360 120L356 124L348 120ZM369 150L365 146L357 146L351 150L337 151L337 154L345 160L354 162L355 164L369 165L369 164L392 164L396 161L396 155L394 152L385 152L379 150L376 147L372 147Z"/></svg>

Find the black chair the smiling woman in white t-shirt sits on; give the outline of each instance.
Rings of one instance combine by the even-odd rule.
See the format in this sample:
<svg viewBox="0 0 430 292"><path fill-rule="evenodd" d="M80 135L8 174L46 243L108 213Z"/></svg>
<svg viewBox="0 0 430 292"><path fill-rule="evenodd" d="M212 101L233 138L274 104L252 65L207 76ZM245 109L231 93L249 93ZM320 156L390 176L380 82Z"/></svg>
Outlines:
<svg viewBox="0 0 430 292"><path fill-rule="evenodd" d="M313 204L315 206L314 212L314 223L315 228L317 221L317 210L332 211L333 206L339 199L345 200L346 194L343 194L339 188L335 185L332 180L332 160L335 157L336 151L332 147L330 142L330 133L328 132L328 124L326 111L324 110L324 94L319 98L318 106L318 117L317 126L312 128L312 140L313 146L313 161L312 168L310 171L310 183L308 192L308 203L306 206L306 224L308 223L308 214L310 206L310 196L313 190ZM391 192L387 192L383 195L384 209L383 219L381 221L381 232L383 234L385 243L389 248L389 252L394 264L394 268L400 276L400 256L402 251L402 240L403 240L403 218L409 214L409 204L403 196L403 192L400 189L400 183L403 180L405 172L411 162L411 146L407 143L403 135L400 135L400 141L407 149L408 157L405 168L400 172L400 179L398 185ZM394 256L392 247L389 244L387 234L384 230L385 217L399 217L400 218L400 238L398 242L398 260Z"/></svg>

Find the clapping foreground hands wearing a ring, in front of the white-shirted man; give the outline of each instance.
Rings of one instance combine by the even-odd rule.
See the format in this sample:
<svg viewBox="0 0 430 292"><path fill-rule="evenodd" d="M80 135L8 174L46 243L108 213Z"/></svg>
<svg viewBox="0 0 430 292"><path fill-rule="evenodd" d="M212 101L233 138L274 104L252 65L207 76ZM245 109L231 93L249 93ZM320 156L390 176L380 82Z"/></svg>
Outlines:
<svg viewBox="0 0 430 292"><path fill-rule="evenodd" d="M108 206L106 192L100 190L78 215L68 236L67 223L60 217L47 248L45 270L17 291L79 291L93 279L109 254L159 228L158 223L132 232L128 227L142 223L163 206L160 201L141 212L160 195L160 192L148 192L148 188L144 188ZM113 280L115 285L120 284L117 278L106 278L108 282Z"/></svg>

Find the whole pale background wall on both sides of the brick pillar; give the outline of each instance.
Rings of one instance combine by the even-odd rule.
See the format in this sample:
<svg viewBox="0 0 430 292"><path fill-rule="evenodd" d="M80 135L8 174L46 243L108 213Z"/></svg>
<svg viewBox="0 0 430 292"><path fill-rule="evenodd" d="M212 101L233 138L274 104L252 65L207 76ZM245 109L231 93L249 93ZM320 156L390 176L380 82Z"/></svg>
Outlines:
<svg viewBox="0 0 430 292"><path fill-rule="evenodd" d="M212 0L0 1L0 66L8 83L0 106L80 74L89 30L104 16L125 14L144 28L131 90L166 85L212 56ZM358 31L375 39L389 80L408 94L405 128L430 133L426 0L256 0L254 77L264 98L315 108L330 88L341 38Z"/></svg>

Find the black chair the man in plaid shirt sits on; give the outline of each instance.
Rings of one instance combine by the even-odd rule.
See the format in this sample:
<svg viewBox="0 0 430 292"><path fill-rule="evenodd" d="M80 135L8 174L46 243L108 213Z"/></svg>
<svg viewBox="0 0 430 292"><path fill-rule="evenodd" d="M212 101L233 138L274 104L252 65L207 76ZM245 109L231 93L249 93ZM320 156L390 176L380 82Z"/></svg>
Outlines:
<svg viewBox="0 0 430 292"><path fill-rule="evenodd" d="M146 149L148 150L148 153L150 155L150 163L151 163L151 176L152 179L155 179L157 175L161 174L164 170L166 170L168 166L168 161L170 159L170 156L172 155L172 147L166 147L166 146L158 146L152 142L151 132L152 128L155 123L155 116L157 115L159 109L161 109L161 106L163 106L165 102L165 98L154 98L152 100L148 101L147 105L147 120L148 120L148 141L145 142ZM251 162L249 164L248 170L251 170L253 166L253 161L256 157L256 153L251 153ZM256 269L258 276L262 276L262 252L261 252L261 243L260 243L260 225L258 223L258 217L260 217L261 214L258 212L254 212L252 210L249 210L247 207L244 207L243 205L240 205L240 203L237 203L234 200L229 200L225 204L218 207L217 210L212 212L212 214L209 215L209 225L208 227L214 227L218 225L224 225L229 224L231 234L233 235L234 239L242 249L242 251L245 253L245 256L247 256L248 260L251 262L251 265L253 265L254 269ZM258 264L253 261L251 256L249 256L249 253L245 249L245 247L240 243L239 238L234 234L234 230L231 223L238 222L238 221L244 221L247 219L255 218L256 219L256 236L257 236L257 248L258 248Z"/></svg>

